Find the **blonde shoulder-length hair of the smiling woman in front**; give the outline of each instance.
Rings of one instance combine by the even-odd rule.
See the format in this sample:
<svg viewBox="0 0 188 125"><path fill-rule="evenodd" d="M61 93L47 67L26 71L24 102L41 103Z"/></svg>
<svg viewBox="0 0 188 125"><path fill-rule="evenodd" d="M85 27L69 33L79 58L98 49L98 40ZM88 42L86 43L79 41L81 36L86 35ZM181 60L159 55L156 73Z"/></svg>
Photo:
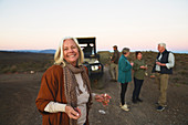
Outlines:
<svg viewBox="0 0 188 125"><path fill-rule="evenodd" d="M83 62L84 62L84 54L83 54L83 51L81 49L81 46L79 45L79 42L75 38L72 38L72 37L66 37L66 38L63 38L62 41L60 42L59 44L59 48L56 49L56 52L54 54L54 64L63 64L63 66L65 66L65 62L64 62L64 56L63 56L63 43L65 40L67 39L71 39L75 42L77 49L79 49L79 60L77 60L77 64L81 65Z"/></svg>

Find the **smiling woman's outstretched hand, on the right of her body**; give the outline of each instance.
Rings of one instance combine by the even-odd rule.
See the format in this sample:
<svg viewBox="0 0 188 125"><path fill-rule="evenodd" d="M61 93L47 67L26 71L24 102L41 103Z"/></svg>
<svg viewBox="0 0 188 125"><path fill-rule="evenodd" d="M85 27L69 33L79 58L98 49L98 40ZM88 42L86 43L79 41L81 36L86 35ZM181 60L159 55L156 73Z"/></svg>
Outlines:
<svg viewBox="0 0 188 125"><path fill-rule="evenodd" d="M103 105L108 105L109 98L112 97L108 94L95 95L95 101L102 102Z"/></svg>

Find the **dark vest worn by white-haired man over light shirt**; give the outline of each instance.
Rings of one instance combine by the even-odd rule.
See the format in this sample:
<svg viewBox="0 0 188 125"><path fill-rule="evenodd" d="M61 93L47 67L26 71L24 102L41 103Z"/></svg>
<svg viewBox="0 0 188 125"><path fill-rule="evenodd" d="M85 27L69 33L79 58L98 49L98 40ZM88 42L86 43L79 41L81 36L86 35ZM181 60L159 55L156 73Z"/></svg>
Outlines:
<svg viewBox="0 0 188 125"><path fill-rule="evenodd" d="M169 53L170 53L169 51L165 50L161 53L163 56L161 56L161 59L158 62L160 62L160 63L168 63L168 55L169 55ZM156 58L157 60L158 60L159 55L160 55L160 53L158 53L158 55ZM153 73L156 72L155 69L156 69L156 62L155 62L153 71L152 71ZM160 73L161 74L173 74L173 69L167 69L166 66L160 66Z"/></svg>

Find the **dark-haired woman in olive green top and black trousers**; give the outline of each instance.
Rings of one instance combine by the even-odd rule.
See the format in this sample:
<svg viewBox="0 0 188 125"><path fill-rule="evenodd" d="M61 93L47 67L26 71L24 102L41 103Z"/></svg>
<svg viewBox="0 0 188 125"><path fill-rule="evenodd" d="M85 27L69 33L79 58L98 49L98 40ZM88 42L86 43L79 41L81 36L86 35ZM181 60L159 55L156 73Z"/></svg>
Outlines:
<svg viewBox="0 0 188 125"><path fill-rule="evenodd" d="M134 61L133 70L134 70L134 91L133 91L133 103L143 102L139 98L140 88L144 82L145 72L147 66L145 61L143 60L143 54L140 51L136 51L136 60Z"/></svg>

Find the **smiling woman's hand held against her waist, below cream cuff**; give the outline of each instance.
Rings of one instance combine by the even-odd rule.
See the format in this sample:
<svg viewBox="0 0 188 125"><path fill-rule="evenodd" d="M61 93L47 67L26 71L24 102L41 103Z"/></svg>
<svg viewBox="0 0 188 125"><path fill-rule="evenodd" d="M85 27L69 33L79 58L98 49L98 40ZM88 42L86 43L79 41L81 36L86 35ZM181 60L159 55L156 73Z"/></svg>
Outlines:
<svg viewBox="0 0 188 125"><path fill-rule="evenodd" d="M81 117L81 110L79 107L74 110L72 106L65 106L65 113L73 119L79 119Z"/></svg>

